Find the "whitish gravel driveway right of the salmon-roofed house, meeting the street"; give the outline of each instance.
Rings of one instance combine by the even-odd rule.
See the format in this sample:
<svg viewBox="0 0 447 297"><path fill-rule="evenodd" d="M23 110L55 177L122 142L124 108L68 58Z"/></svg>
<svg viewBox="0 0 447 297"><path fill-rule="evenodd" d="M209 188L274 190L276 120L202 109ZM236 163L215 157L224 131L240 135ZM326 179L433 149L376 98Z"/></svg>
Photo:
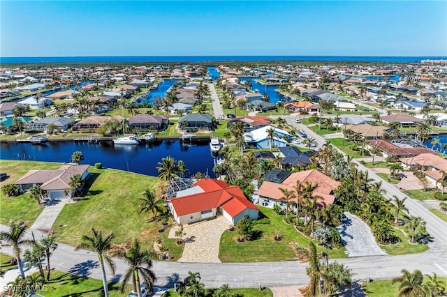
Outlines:
<svg viewBox="0 0 447 297"><path fill-rule="evenodd" d="M337 227L349 257L377 256L386 254L377 245L371 229L360 218L344 213L346 220Z"/></svg>

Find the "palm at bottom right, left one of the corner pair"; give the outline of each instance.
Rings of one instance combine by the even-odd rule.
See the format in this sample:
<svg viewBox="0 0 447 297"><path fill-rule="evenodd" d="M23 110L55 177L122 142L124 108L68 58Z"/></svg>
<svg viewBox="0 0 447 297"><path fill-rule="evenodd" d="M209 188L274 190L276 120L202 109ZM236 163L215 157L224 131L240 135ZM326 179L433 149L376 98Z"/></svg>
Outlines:
<svg viewBox="0 0 447 297"><path fill-rule="evenodd" d="M399 292L397 297L402 296L425 296L425 288L423 286L423 274L419 270L410 273L406 269L402 269L402 276L395 277L391 280L391 284L399 283Z"/></svg>

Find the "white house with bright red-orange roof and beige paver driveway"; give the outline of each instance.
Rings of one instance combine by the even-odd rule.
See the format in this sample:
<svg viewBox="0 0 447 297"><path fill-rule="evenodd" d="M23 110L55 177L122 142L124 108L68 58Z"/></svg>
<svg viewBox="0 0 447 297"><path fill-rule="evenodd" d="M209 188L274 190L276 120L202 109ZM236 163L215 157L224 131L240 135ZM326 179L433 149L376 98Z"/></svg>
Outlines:
<svg viewBox="0 0 447 297"><path fill-rule="evenodd" d="M203 178L192 188L180 190L175 197L166 199L168 208L179 224L192 224L223 215L230 224L242 218L256 220L259 209L242 190L213 178Z"/></svg>

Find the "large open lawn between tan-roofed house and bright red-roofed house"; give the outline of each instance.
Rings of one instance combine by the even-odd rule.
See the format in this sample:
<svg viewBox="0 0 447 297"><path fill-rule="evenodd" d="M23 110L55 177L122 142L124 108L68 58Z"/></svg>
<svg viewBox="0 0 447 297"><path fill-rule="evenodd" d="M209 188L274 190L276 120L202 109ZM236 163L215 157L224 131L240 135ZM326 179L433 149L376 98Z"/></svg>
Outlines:
<svg viewBox="0 0 447 297"><path fill-rule="evenodd" d="M91 186L85 197L64 206L54 222L57 241L76 246L82 235L91 234L93 227L104 234L113 232L113 243L131 243L139 238L145 250L152 250L154 241L161 238L170 257L176 260L181 256L183 246L167 238L169 226L159 233L159 224L147 222L148 215L138 215L138 199L145 188L157 192L157 178L115 169L90 167L89 171Z"/></svg>

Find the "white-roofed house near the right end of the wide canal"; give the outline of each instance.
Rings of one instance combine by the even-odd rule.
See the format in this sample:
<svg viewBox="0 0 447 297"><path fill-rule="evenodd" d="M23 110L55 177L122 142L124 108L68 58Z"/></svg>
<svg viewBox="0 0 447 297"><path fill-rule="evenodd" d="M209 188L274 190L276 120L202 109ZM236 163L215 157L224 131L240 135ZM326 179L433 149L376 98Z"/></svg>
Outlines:
<svg viewBox="0 0 447 297"><path fill-rule="evenodd" d="M271 125L266 125L251 132L244 133L244 142L250 146L255 146L256 148L270 148L270 138L268 137L268 130L273 129L276 134L273 137L272 147L282 147L287 146L287 141L283 137L288 137L290 139L291 135L287 131L274 128Z"/></svg>

